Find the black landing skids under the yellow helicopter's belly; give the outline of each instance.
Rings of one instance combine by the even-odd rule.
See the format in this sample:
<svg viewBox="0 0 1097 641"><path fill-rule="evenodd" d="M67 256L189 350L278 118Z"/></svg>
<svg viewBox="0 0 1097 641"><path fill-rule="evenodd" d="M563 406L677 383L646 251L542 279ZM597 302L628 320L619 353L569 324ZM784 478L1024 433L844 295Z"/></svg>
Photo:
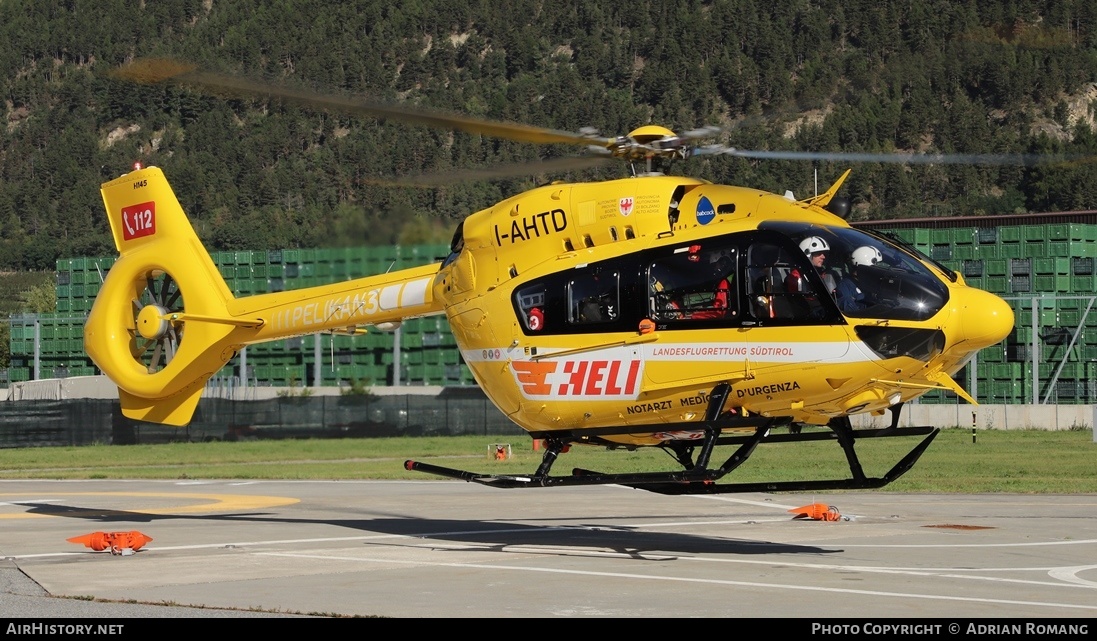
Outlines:
<svg viewBox="0 0 1097 641"><path fill-rule="evenodd" d="M830 431L770 434L771 428L780 425L780 419L719 419L727 398L730 386L717 385L712 391L705 419L701 423L690 423L688 428L702 432L700 443L693 441L669 441L663 447L681 464L682 470L676 472L638 472L606 474L590 470L575 469L569 476L553 476L550 472L561 453L567 451L573 443L589 443L591 438L614 434L635 434L636 428L619 427L597 430L580 430L579 432L548 432L543 437L545 453L541 465L533 474L480 474L432 465L419 461L406 461L404 468L411 471L426 472L451 479L461 479L490 487L557 487L570 485L604 485L617 484L637 490L646 490L658 494L731 494L743 492L808 492L824 490L873 490L883 487L905 474L918 458L926 451L929 443L940 432L935 427L897 427L893 420L891 427L884 429L853 430L849 418L842 417L830 421ZM897 418L897 409L895 412ZM754 434L723 436L727 428L754 428ZM581 435L581 436L580 436ZM533 435L538 438L540 435ZM924 436L925 438L886 474L880 477L869 477L861 468L861 462L855 451L855 441L866 438L884 438L902 436ZM755 448L762 442L801 442L815 440L837 440L846 453L849 465L848 479L817 481L777 481L765 483L716 483L720 479L742 465ZM738 448L722 464L710 465L710 459L716 446L738 445Z"/></svg>

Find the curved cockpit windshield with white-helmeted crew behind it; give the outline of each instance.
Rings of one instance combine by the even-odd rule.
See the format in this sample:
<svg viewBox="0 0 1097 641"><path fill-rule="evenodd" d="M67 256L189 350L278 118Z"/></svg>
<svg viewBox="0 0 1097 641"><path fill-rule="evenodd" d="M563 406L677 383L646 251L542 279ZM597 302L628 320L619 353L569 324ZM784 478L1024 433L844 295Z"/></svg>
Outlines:
<svg viewBox="0 0 1097 641"><path fill-rule="evenodd" d="M761 227L793 238L847 317L925 320L948 302L948 288L940 278L909 249L885 237L856 228L790 223Z"/></svg>

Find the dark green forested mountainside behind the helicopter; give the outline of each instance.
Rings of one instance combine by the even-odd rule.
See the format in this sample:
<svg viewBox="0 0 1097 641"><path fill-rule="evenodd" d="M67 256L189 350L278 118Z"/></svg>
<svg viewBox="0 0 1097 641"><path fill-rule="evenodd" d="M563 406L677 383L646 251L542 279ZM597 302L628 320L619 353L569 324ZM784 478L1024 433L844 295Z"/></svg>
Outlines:
<svg viewBox="0 0 1097 641"><path fill-rule="evenodd" d="M0 269L113 254L101 182L165 169L212 249L448 239L546 179L386 187L574 153L111 79L172 56L317 92L619 135L716 124L750 149L1097 155L1088 0L0 0ZM848 165L693 160L798 195ZM857 217L1097 206L1093 162L862 164Z"/></svg>

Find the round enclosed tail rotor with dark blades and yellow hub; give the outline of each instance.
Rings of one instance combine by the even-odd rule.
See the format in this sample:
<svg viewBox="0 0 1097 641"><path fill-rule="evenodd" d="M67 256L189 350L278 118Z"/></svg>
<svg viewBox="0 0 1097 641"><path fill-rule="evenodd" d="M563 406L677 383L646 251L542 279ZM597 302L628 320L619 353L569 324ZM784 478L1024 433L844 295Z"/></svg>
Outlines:
<svg viewBox="0 0 1097 641"><path fill-rule="evenodd" d="M170 363L179 350L183 322L171 315L182 313L183 297L179 282L165 271L148 270L143 280L144 288L135 290L133 299L131 352L151 374Z"/></svg>

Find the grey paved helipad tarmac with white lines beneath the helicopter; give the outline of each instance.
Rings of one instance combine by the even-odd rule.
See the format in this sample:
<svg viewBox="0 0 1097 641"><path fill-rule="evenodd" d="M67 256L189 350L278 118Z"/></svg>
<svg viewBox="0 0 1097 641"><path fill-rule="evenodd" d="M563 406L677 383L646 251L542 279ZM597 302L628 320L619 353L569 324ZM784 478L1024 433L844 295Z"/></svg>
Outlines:
<svg viewBox="0 0 1097 641"><path fill-rule="evenodd" d="M0 481L0 524L5 619L1097 618L1097 495Z"/></svg>

